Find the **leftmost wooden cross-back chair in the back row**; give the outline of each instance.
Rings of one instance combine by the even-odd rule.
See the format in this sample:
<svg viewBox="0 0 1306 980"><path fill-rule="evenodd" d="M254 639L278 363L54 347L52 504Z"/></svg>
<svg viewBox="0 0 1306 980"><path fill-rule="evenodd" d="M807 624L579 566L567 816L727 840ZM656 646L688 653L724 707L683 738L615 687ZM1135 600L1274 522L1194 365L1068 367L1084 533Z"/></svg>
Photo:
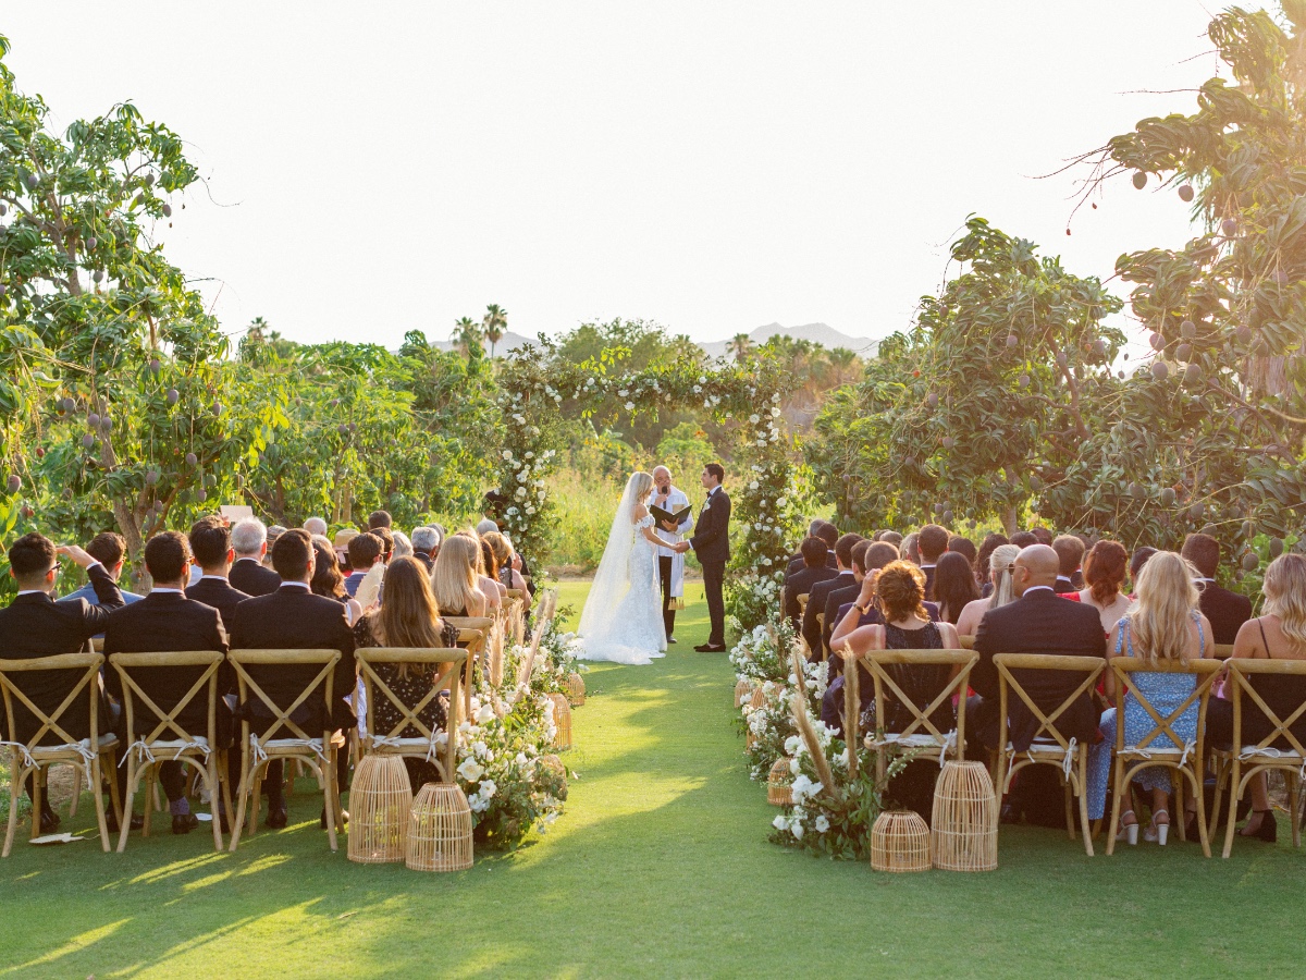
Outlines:
<svg viewBox="0 0 1306 980"><path fill-rule="evenodd" d="M107 766L108 787L114 810L123 821L121 801L118 798L118 781L112 777L114 750L118 737L99 733L99 669L104 664L102 653L59 653L31 660L0 660L0 696L4 700L7 732L4 745L9 749L9 826L4 838L3 857L13 848L13 835L18 828L18 800L22 797L24 783L31 776L31 836L40 834L40 797L46 791L46 771L56 764L69 762L86 770L86 783L95 797L95 821L99 825L101 847L108 851L108 822L104 818L104 797L99 792L101 774ZM24 681L35 672L60 672L68 674L68 691L59 707L46 713L24 691ZM48 678L44 678L48 679ZM90 702L86 738L74 738L64 727L64 716L80 698ZM16 708L22 711L17 712ZM18 720L26 713L35 723L35 732L26 737L18 734ZM55 745L42 745L46 736L60 740Z"/></svg>

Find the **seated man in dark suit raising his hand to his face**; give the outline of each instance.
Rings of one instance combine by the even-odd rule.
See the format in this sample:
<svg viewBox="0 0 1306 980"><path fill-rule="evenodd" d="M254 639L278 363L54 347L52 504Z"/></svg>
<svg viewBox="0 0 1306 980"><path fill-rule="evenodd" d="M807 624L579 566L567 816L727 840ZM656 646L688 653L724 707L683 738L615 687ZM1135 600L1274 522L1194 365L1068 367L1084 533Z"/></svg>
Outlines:
<svg viewBox="0 0 1306 980"><path fill-rule="evenodd" d="M86 570L95 589L97 605L85 598L65 598L55 601L51 592L59 578L57 557L71 558ZM123 606L123 593L104 566L91 558L77 545L59 545L43 534L24 534L9 547L9 574L18 583L18 595L7 609L0 609L0 651L10 660L35 660L59 653L78 653L86 648L86 640L102 632L108 615ZM26 674L22 683L24 694L47 715L52 715L72 690L72 672L39 670ZM0 712L3 713L3 712ZM107 704L99 710L99 732L111 729L111 715ZM30 738L37 732L37 721L31 712L16 703L14 720L20 740ZM90 736L90 700L86 693L73 700L64 712L60 725L73 738ZM8 720L4 737L8 738ZM46 733L43 743L57 745L63 740L54 733ZM98 787L93 788L98 792ZM31 797L31 783L27 783L27 796ZM108 808L112 823L118 817ZM59 826L59 817L50 808L48 800L40 801L40 828L50 832Z"/></svg>

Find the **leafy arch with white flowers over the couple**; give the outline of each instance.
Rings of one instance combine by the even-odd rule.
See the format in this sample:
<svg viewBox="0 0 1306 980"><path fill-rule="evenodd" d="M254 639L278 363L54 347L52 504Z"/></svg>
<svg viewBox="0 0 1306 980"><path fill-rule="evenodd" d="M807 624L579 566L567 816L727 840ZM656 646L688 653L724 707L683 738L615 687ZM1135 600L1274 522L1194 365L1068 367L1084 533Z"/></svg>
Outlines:
<svg viewBox="0 0 1306 980"><path fill-rule="evenodd" d="M558 465L564 416L588 417L610 396L631 417L662 408L710 412L735 433L738 446L725 481L735 528L726 609L744 629L765 622L799 529L793 446L780 412L786 391L780 366L764 355L707 365L684 358L633 371L623 367L628 351L620 348L568 363L554 357L546 338L541 345L504 362L499 376L499 490L508 498L502 523L515 545L528 558L545 557L556 507L547 477Z"/></svg>

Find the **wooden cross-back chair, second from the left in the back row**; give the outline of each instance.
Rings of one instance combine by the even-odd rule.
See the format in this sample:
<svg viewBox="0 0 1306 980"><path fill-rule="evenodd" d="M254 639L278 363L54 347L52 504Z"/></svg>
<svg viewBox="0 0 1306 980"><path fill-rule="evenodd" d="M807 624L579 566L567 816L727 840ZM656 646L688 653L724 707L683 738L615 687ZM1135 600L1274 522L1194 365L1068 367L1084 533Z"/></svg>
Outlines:
<svg viewBox="0 0 1306 980"><path fill-rule="evenodd" d="M225 754L218 749L217 741L217 702L218 702L218 668L226 657L215 649L206 651L180 651L168 653L114 653L108 662L118 672L123 682L123 715L127 719L127 811L131 811L131 801L136 796L136 787L145 776L146 794L149 801L155 791L158 766L165 762L179 762L200 774L209 798L217 804L218 793L226 791L226 811L231 813L231 792L226 780L218 780L218 759ZM151 681L158 678L161 672L180 672L202 668L200 676L191 685L189 690L170 704L161 706L163 700L157 693L157 685ZM150 679L145 674L150 673ZM144 685L144 686L142 686ZM146 689L155 689L151 695ZM187 708L201 699L205 704L204 733L187 730L178 720ZM145 708L145 711L141 711ZM153 713L155 724L146 730L141 724L142 715ZM150 835L150 815L153 808L145 808L145 826L141 828L144 836ZM213 821L213 847L222 849L222 821ZM118 851L121 853L127 848L127 835L131 830L131 821L121 822L121 831L118 838Z"/></svg>

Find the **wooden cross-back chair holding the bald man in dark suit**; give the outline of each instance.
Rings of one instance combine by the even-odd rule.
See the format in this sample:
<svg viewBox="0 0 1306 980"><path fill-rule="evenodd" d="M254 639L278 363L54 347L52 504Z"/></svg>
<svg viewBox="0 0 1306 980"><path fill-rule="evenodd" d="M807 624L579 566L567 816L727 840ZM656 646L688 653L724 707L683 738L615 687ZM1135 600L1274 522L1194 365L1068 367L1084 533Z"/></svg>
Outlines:
<svg viewBox="0 0 1306 980"><path fill-rule="evenodd" d="M999 741L998 770L994 775L993 785L1000 809L1002 796L1011 784L1011 777L1027 766L1046 764L1057 766L1062 771L1062 781L1066 787L1066 832L1071 840L1075 839L1075 817L1071 809L1071 797L1079 797L1080 828L1084 834L1084 851L1093 856L1093 831L1088 822L1088 743L1067 738L1058 730L1057 719L1079 700L1080 695L1088 694L1097 685L1097 678L1106 669L1106 660L1102 657L1075 657L1058 656L1051 653L998 653L993 659L998 668L999 694ZM1079 686L1064 698L1051 711L1043 711L1037 702L1024 689L1020 681L1012 674L1013 670L1055 670L1059 673L1083 674ZM1034 741L1019 758L1013 751L1008 733L1008 704L1011 693L1024 703L1038 723L1034 730ZM1122 721L1123 724L1123 721Z"/></svg>

